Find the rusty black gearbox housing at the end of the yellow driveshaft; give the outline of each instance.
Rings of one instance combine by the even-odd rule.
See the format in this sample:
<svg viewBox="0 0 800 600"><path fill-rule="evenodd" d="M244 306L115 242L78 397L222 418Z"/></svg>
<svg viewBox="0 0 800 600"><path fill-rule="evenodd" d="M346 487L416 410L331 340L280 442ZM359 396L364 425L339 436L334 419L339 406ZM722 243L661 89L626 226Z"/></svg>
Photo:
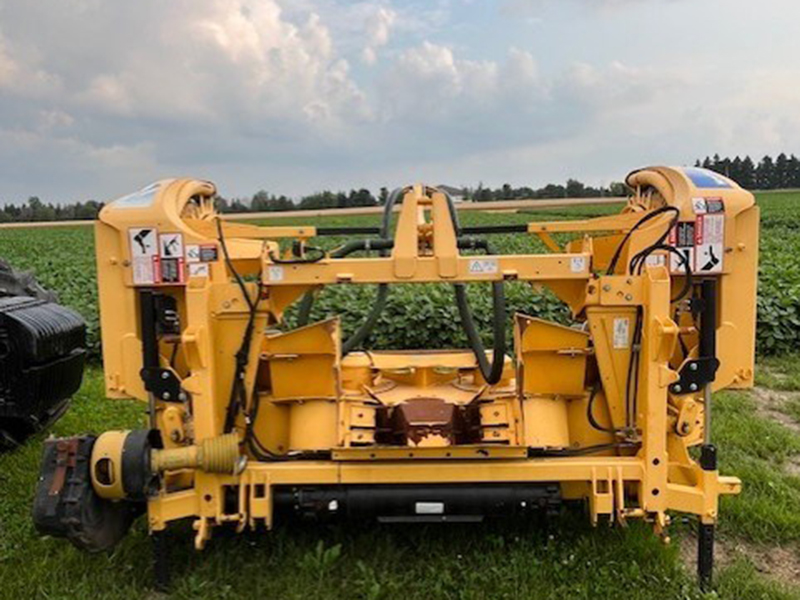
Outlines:
<svg viewBox="0 0 800 600"><path fill-rule="evenodd" d="M41 535L63 537L81 550L102 552L123 536L144 504L101 498L89 472L97 438L50 439L33 503L33 522Z"/></svg>

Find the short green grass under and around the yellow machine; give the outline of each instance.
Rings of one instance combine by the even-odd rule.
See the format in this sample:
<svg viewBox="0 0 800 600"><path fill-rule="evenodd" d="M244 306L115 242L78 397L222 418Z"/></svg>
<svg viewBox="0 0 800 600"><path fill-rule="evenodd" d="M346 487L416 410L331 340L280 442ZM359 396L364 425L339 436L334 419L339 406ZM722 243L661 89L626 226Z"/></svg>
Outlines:
<svg viewBox="0 0 800 600"><path fill-rule="evenodd" d="M103 398L92 368L56 435L136 427L144 404ZM721 469L744 481L722 506L723 539L800 542L800 479L781 465L800 436L759 417L748 393L718 394ZM138 598L150 592L150 545L141 521L110 554L86 555L40 539L30 520L41 436L0 456L0 598ZM188 526L171 530L176 598L701 598L677 544L650 526L592 529L580 508L537 521L446 526L300 524L236 536L218 531L206 551ZM686 535L678 523L673 538ZM719 573L721 598L800 598L741 559Z"/></svg>

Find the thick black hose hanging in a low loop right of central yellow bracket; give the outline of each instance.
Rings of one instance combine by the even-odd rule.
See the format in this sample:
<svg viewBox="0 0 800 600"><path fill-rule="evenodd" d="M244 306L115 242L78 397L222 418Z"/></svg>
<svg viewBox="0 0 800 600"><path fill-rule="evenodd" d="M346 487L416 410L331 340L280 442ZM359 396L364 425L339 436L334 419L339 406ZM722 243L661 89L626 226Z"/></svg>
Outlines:
<svg viewBox="0 0 800 600"><path fill-rule="evenodd" d="M486 254L492 254L489 244L485 240L470 240L469 238L461 237L461 224L458 221L458 213L453 204L453 199L450 194L444 193L447 200L447 208L450 212L450 219L453 222L453 229L458 239L459 247L472 247L481 249ZM472 318L472 310L467 300L467 286L463 283L454 283L453 290L456 296L456 306L458 307L458 314L461 318L461 326L464 328L464 333L467 335L469 345L472 348L472 353L475 355L475 360L478 361L478 368L481 370L481 375L489 385L494 385L503 376L503 367L506 360L506 294L503 281L492 282L492 329L493 329L493 348L492 348L492 363L486 359L486 349L483 347L481 336L478 333L478 328L475 326L475 321Z"/></svg>

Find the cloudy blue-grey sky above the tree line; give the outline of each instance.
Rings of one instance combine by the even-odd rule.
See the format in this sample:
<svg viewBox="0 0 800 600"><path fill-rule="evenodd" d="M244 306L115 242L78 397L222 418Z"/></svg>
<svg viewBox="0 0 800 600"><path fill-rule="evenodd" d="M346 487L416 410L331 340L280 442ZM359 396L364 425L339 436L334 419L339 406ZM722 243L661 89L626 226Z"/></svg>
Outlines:
<svg viewBox="0 0 800 600"><path fill-rule="evenodd" d="M0 0L0 203L800 152L796 0Z"/></svg>

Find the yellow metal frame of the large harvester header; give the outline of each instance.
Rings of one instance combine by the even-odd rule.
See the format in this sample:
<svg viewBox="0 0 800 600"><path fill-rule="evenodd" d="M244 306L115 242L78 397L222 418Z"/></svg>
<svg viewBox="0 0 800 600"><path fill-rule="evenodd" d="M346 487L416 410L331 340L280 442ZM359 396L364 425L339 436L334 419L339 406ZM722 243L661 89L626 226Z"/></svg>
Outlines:
<svg viewBox="0 0 800 600"><path fill-rule="evenodd" d="M639 275L602 272L622 236L645 211L674 206L681 219L688 220L694 217L694 198L720 198L725 207L725 262L722 272L714 275L720 288L721 363L714 389L750 386L758 207L753 196L733 182L721 189L698 189L678 168L645 169L633 174L629 183L634 194L620 215L529 224L528 232L545 242L553 251L549 254L461 255L445 196L421 185L404 193L391 256L277 263L274 258L281 239L305 241L316 235L316 229L222 221L232 266L250 278L246 286L251 297L261 297L244 385L248 397L262 394L269 425L265 417L255 430L276 453L296 446L329 450L331 458L272 462L251 456L235 474L204 471L196 466L197 460L187 463L191 468L182 464L180 469L167 469L160 492L148 501L150 528L161 530L170 521L192 517L196 545L201 548L216 524L235 522L244 527L263 522L270 527L272 490L278 485L488 482L560 483L564 497L588 500L595 523L600 516L619 522L646 518L661 531L668 510L713 522L719 496L738 493L740 483L716 471L703 471L689 456L688 448L702 439L702 393L675 397L668 389L678 379L682 360L677 350L679 335L690 343L690 352L696 352L692 349L696 332L690 323L674 320L670 304L670 294L683 278L664 265L648 266ZM204 181L160 182L149 204L111 203L96 226L106 389L110 397L153 403L166 450L197 446L222 435L234 376L233 356L249 318L247 304L223 260L219 217L210 208L214 194L214 186ZM620 264L627 265L626 257L656 241L669 221L670 215L662 215L633 231ZM169 368L191 396L185 405L150 398L139 374L138 292L142 286L134 280L129 230L143 227L161 234L179 233L184 246L205 245L216 251L216 260L207 262L201 275L187 274L178 285L156 286L178 303L180 347ZM551 237L555 233L582 233L583 237L562 249ZM486 262L478 269L475 261ZM259 275L258 283L253 282ZM354 353L342 360L336 321L288 334L274 330L288 306L325 285L499 280L548 287L587 327L581 332L518 317L517 356L508 361L503 380L496 386L482 382L469 353ZM637 442L638 449L529 458L531 445L566 443L580 448L615 441L614 434L599 432L586 422L589 391L584 389L583 377L590 359L603 385L599 405L605 411L598 409L598 418L624 428L623 368L631 348L617 347L614 321L630 321L637 310L642 313L638 413L633 416L633 430L626 435ZM526 328L531 327L538 333L526 337ZM170 365L171 349L170 343L162 343L165 367ZM546 376L543 367L548 370ZM370 388L376 373L387 386L395 386L392 389L434 389L458 404L479 398L486 406L497 407L491 414L481 413L490 423L487 437L463 446L437 442L432 447L409 448L370 443L374 427L369 411L374 411L374 398L383 394L385 401L392 401L391 393ZM461 387L455 385L462 380L466 383ZM443 391L447 386L452 389ZM278 389L283 391L278 393ZM304 424L302 434L292 430L292 419ZM241 434L243 429L240 420L237 430ZM223 502L230 486L239 498L232 514L225 511Z"/></svg>

